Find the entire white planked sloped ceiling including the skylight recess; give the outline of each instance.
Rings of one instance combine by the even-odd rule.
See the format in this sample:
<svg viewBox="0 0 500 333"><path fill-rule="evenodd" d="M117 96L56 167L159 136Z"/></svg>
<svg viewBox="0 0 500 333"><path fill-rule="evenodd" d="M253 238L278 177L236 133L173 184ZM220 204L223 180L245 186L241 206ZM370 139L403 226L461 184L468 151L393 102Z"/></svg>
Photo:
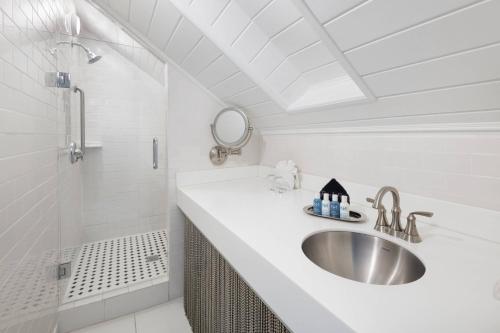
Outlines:
<svg viewBox="0 0 500 333"><path fill-rule="evenodd" d="M94 2L263 127L500 110L500 0Z"/></svg>

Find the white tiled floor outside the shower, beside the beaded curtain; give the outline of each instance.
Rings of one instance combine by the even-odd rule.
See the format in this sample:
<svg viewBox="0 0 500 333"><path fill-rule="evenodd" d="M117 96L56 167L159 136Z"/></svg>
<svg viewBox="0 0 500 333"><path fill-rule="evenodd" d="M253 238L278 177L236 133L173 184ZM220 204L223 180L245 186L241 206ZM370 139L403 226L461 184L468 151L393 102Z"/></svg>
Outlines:
<svg viewBox="0 0 500 333"><path fill-rule="evenodd" d="M192 333L182 298L73 333Z"/></svg>

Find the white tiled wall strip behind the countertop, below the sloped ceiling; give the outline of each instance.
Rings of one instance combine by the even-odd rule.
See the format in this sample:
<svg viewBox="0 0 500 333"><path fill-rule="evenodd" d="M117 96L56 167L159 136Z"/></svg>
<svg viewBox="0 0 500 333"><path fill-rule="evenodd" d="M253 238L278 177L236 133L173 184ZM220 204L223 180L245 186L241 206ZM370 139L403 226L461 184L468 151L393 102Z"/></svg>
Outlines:
<svg viewBox="0 0 500 333"><path fill-rule="evenodd" d="M498 147L498 133L264 135L262 164L500 210Z"/></svg>

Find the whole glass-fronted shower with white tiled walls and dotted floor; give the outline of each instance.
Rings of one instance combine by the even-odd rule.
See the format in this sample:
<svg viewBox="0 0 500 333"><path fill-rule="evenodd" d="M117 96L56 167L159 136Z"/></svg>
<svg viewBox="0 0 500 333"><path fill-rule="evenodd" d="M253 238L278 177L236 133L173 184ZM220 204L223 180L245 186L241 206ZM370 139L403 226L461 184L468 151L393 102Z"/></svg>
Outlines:
<svg viewBox="0 0 500 333"><path fill-rule="evenodd" d="M119 29L69 33L68 4L0 3L2 333L168 295L165 64Z"/></svg>

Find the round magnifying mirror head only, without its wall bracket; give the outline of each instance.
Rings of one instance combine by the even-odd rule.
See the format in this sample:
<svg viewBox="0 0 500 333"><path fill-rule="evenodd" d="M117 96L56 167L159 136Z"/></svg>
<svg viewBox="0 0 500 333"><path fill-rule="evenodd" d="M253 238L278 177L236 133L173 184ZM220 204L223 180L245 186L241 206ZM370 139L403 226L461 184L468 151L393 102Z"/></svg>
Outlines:
<svg viewBox="0 0 500 333"><path fill-rule="evenodd" d="M228 148L244 146L250 138L251 130L246 114L235 108L220 111L212 124L215 141Z"/></svg>

